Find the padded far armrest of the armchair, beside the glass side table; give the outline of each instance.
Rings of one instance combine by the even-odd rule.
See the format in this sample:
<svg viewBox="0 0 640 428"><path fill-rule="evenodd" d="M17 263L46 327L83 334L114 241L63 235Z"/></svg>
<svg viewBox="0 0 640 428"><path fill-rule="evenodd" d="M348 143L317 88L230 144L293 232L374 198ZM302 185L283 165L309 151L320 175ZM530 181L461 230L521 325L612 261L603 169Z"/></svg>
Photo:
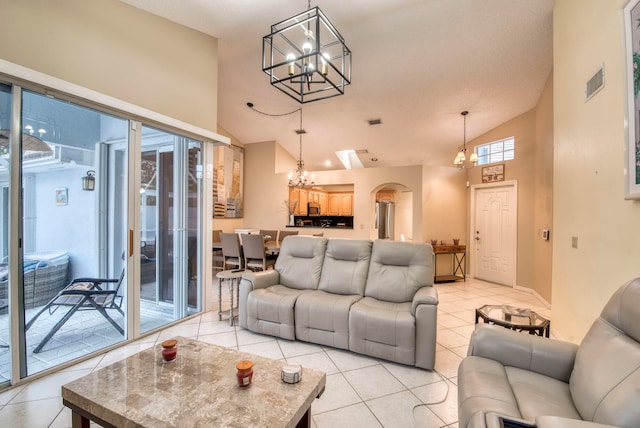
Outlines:
<svg viewBox="0 0 640 428"><path fill-rule="evenodd" d="M577 350L578 346L570 342L478 324L468 354L569 382Z"/></svg>

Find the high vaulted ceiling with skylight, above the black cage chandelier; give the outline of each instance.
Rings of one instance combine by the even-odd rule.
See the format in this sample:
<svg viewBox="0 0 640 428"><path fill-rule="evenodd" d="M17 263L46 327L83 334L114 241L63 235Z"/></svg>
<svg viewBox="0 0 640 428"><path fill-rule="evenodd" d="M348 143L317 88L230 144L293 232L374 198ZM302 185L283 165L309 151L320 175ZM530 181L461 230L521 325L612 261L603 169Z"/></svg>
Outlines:
<svg viewBox="0 0 640 428"><path fill-rule="evenodd" d="M246 104L271 114L301 106L269 84L261 52L271 24L305 11L307 1L122 1L217 37L218 124L245 144L275 140L298 158L299 116L263 116ZM345 149L366 149L366 167L452 166L463 140L460 112L469 111L469 141L535 107L552 68L553 5L312 1L345 38L353 69L345 95L303 106L307 168L341 169L334 152Z"/></svg>

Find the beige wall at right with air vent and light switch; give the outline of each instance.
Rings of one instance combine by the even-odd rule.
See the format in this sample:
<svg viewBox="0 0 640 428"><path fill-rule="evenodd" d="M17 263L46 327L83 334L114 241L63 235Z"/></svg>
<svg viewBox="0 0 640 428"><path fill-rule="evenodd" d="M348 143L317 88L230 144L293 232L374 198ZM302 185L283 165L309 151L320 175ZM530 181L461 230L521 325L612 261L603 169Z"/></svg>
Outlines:
<svg viewBox="0 0 640 428"><path fill-rule="evenodd" d="M624 199L627 2L558 0L554 9L552 325L573 342L640 276L640 204ZM586 81L603 63L605 87L585 102Z"/></svg>

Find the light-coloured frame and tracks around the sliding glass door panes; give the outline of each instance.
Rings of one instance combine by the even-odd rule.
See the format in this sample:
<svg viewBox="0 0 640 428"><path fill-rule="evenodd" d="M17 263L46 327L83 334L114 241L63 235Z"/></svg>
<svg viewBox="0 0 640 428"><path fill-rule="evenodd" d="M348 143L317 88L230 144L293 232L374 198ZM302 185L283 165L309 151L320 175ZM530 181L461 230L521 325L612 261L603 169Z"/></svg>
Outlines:
<svg viewBox="0 0 640 428"><path fill-rule="evenodd" d="M114 114L123 119L129 120L129 147L128 147L128 168L127 168L127 188L128 198L125 203L127 204L126 212L129 216L127 219L128 230L128 251L126 259L126 278L123 284L125 289L127 316L125 325L125 339L123 342L119 342L116 345L112 345L103 348L99 351L87 354L84 357L80 357L74 360L74 363L89 359L95 355L99 355L108 352L111 349L123 346L126 343L130 343L141 337L140 334L140 267L136 261L140 260L140 238L134 231L140 230L139 220L139 204L140 204L140 148L141 148L141 122L134 118L143 118L141 112L154 117L155 119L144 120L145 124L157 127L159 129L168 129L170 132L178 133L179 135L187 138L191 138L201 142L202 144L202 173L203 173L203 192L202 192L202 204L199 207L198 215L201 216L201 245L198 248L199 251L199 263L198 274L201 278L201 289L198 297L198 310L197 314L201 314L207 310L211 310L213 299L213 291L207 284L212 283L212 271L207 269L207 266L211 266L211 230L212 230L212 213L206 209L212 204L211 196L211 183L212 183L212 167L214 148L217 145L228 145L230 140L227 137L214 134L205 129L197 128L189 124L177 121L172 118L168 118L157 113L146 111L134 105L128 104L123 101L110 99L102 94L93 92L91 90L76 87L73 84L59 81L46 75L36 75L32 81L22 80L20 77L14 77L14 75L5 74L6 69L0 70L0 82L11 87L11 145L10 150L14 155L10 157L9 166L9 180L10 185L8 189L8 258L10 261L9 277L12 278L9 281L9 323L10 323L10 358L11 358L11 386L15 386L24 383L30 379L39 378L43 375L59 370L61 367L65 367L68 364L63 363L61 366L56 366L51 369L43 370L37 374L26 376L26 341L24 336L25 326L25 309L21 303L23 301L22 287L23 283L23 269L21 269L22 263L22 189L21 185L15 183L22 183L21 180L21 161L20 155L20 132L22 130L22 90L28 89L40 94L51 93L56 99L70 101L80 106L85 106L97 111ZM15 73L15 76L19 76L20 73ZM34 76L29 76L34 78ZM44 82L44 83L43 83ZM58 92L56 88L62 88ZM106 100L106 103L105 103ZM115 107L114 107L115 105ZM124 106L125 108L122 108ZM158 122L160 120L160 122ZM137 125L137 127L136 127ZM18 155L15 155L15 154ZM207 191L209 189L209 191ZM209 215L207 215L209 214ZM208 221L207 221L208 220ZM209 249L209 251L207 251ZM197 315L196 314L196 315ZM195 316L189 315L188 317ZM175 320L162 328L166 328L174 323L183 321L183 319ZM157 329L156 329L157 330ZM145 332L144 336L153 334L156 330ZM0 390L3 389L5 384L0 384Z"/></svg>

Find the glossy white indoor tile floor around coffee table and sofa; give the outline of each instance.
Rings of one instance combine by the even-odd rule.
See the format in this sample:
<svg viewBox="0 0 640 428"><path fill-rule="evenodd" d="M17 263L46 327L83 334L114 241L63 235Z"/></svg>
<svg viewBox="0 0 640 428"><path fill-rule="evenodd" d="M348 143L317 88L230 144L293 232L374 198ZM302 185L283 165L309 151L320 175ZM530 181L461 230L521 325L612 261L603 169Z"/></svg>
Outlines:
<svg viewBox="0 0 640 428"><path fill-rule="evenodd" d="M458 364L474 329L474 309L487 303L530 307L549 318L534 295L467 280L437 286L440 297L436 370L416 369L347 351L275 339L231 327L208 312L105 355L0 393L0 426L70 427L60 386L166 338L181 335L327 373L325 393L312 407L312 425L321 427L458 427Z"/></svg>

